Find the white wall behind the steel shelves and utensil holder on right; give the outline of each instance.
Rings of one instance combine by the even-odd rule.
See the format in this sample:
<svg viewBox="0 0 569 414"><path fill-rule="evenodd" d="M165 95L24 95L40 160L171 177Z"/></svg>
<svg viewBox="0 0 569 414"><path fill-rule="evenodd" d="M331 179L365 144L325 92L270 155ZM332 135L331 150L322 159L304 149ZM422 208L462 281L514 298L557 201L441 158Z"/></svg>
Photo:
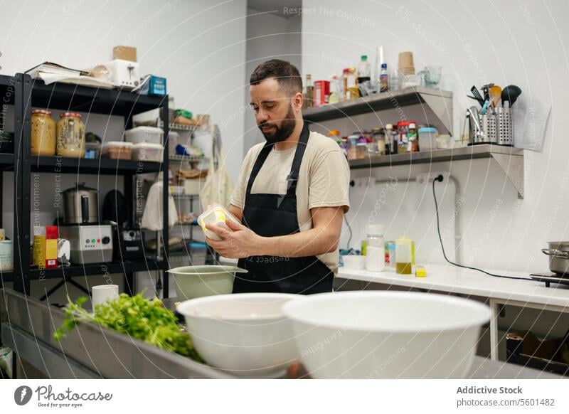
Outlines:
<svg viewBox="0 0 569 414"><path fill-rule="evenodd" d="M385 0L361 1L356 6L340 0L304 0L303 6L302 70L312 73L313 79L326 79L348 63L357 63L363 53L373 56L376 46L383 45L391 68L397 64L400 51L413 51L417 70L425 65L442 65L443 88L454 92L455 135L461 133L467 105L472 105L465 97L472 85L516 84L523 90L522 100L553 105L543 152L525 154L526 197L522 201L517 200L514 187L499 167L487 159L458 161L452 166L422 164L371 171L372 176L385 178L452 169L464 196L459 209L463 262L494 269L547 270L540 249L546 247L547 240L569 237L569 200L565 193L569 176L569 140L565 137L569 59L565 43L569 28L564 21L568 4L536 0L484 0L475 4ZM378 117L358 117L357 123L366 128L397 119L393 112L381 112ZM408 117L419 114L409 113ZM335 126L331 121L321 128ZM345 123L341 127L344 134L355 129ZM354 177L368 174L353 171ZM449 203L442 206L442 225L450 226L445 244L447 250L452 250L454 186L448 186L445 192ZM349 219L356 240L363 236L363 223L371 216L380 193L381 186L352 192ZM418 260L441 262L430 189L400 182L387 197L395 203L388 199L379 216L390 228L388 237L395 238L405 231L418 240Z"/></svg>

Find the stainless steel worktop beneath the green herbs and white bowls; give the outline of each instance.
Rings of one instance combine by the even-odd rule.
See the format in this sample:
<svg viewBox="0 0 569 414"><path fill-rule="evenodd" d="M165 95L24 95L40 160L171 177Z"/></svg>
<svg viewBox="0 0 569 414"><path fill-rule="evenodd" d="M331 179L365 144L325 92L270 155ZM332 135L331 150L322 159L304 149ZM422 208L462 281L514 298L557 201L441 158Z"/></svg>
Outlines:
<svg viewBox="0 0 569 414"><path fill-rule="evenodd" d="M175 302L164 305L171 309ZM2 342L48 378L236 378L95 324L79 324L55 342L64 312L14 290L0 290L0 314ZM467 378L565 377L477 356Z"/></svg>

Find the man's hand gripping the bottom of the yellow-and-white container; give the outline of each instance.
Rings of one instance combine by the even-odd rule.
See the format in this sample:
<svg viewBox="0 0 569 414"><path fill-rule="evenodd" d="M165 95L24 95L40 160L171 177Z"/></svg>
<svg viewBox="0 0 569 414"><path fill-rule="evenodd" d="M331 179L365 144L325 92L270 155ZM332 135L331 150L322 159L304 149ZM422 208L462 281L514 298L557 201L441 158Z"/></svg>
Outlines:
<svg viewBox="0 0 569 414"><path fill-rule="evenodd" d="M225 224L231 230L227 230L219 225L208 224L206 228L213 231L223 240L213 240L206 238L208 245L216 250L217 253L228 259L248 258L249 256L262 255L261 248L263 238L257 235L250 228L233 221L226 220Z"/></svg>

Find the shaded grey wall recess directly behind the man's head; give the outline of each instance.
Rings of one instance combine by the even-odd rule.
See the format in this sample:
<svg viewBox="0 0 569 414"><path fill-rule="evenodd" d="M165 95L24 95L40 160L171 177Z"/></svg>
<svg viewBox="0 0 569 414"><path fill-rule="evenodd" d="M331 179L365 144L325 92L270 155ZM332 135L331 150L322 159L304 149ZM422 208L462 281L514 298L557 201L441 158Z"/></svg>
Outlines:
<svg viewBox="0 0 569 414"><path fill-rule="evenodd" d="M257 128L255 115L250 110L249 78L253 70L265 60L288 60L301 70L302 39L300 16L280 17L254 9L247 11L247 63L245 65L245 139L243 153L264 138Z"/></svg>

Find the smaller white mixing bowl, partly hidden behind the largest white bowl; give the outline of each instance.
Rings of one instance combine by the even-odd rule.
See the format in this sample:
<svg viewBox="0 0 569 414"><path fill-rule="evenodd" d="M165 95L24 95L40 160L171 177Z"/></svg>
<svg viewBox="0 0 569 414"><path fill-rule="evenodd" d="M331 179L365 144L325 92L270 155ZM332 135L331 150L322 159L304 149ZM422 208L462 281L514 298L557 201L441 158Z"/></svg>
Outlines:
<svg viewBox="0 0 569 414"><path fill-rule="evenodd" d="M275 376L297 360L292 322L282 314L297 296L221 294L187 300L177 310L208 364L238 376Z"/></svg>

